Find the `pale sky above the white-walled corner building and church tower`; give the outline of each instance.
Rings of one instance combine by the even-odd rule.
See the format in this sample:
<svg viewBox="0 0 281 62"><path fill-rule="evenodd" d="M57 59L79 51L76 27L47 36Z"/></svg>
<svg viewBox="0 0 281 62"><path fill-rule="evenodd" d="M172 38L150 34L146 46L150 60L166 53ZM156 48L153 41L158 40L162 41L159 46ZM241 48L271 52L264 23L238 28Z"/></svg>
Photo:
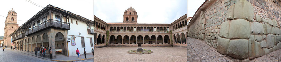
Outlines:
<svg viewBox="0 0 281 62"><path fill-rule="evenodd" d="M83 16L89 20L94 20L93 0L31 0L42 7L51 4L53 6L70 11ZM56 2L55 2L56 1ZM0 0L0 36L4 36L5 17L12 8L17 12L17 21L19 26L29 20L33 15L42 10L26 0Z"/></svg>

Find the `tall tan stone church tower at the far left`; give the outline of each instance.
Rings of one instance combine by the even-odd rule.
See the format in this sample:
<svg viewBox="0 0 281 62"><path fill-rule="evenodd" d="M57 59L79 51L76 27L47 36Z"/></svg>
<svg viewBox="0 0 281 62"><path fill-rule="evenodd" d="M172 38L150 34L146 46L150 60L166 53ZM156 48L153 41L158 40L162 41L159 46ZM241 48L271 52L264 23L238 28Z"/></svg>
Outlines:
<svg viewBox="0 0 281 62"><path fill-rule="evenodd" d="M14 32L18 28L17 24L17 12L13 10L9 10L8 16L5 20L5 28L4 28L4 46L12 46L11 37L9 36L12 32Z"/></svg>

